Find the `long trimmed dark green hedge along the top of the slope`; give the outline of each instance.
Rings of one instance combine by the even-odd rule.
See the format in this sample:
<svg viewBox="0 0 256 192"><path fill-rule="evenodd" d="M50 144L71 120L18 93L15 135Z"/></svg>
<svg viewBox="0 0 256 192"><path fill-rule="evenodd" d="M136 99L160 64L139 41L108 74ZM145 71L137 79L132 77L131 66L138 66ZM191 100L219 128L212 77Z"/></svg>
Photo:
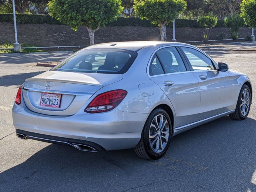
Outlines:
<svg viewBox="0 0 256 192"><path fill-rule="evenodd" d="M13 22L13 14L0 14L0 22ZM43 14L16 14L16 22L23 24L61 24L58 20L50 15ZM116 21L109 23L107 26L141 26L141 27L156 27L149 20L141 20L140 18L124 18L120 17ZM177 28L190 27L199 28L198 23L194 19L176 19L175 26ZM169 24L167 27L172 27ZM216 27L225 27L224 20L218 20Z"/></svg>

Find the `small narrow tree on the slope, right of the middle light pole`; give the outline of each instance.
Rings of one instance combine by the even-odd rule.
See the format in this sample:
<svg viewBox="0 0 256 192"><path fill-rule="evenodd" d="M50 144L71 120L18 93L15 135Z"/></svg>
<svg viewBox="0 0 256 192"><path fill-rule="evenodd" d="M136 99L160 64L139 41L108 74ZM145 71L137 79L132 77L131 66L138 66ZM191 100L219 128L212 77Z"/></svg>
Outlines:
<svg viewBox="0 0 256 192"><path fill-rule="evenodd" d="M201 28L204 41L207 42L213 27L216 26L218 18L216 16L201 16L197 22Z"/></svg>

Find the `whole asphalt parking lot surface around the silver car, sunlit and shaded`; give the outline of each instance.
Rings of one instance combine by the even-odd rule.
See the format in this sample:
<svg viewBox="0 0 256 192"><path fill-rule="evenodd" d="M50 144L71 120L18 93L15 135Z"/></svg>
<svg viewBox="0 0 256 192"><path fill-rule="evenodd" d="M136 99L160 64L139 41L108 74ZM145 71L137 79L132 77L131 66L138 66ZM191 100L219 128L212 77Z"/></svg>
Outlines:
<svg viewBox="0 0 256 192"><path fill-rule="evenodd" d="M250 45L200 46L216 62L250 76L248 118L226 116L175 136L156 161L142 160L132 149L89 153L17 138L11 109L18 87L49 69L36 62L69 54L0 55L0 191L256 191L256 52L232 51Z"/></svg>

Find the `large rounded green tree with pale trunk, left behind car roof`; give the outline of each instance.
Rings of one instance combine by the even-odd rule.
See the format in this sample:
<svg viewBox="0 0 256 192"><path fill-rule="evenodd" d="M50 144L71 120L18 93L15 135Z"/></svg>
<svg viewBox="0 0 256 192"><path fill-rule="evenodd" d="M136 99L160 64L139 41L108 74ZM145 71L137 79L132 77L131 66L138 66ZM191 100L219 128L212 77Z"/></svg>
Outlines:
<svg viewBox="0 0 256 192"><path fill-rule="evenodd" d="M49 14L73 30L84 26L89 33L90 45L94 33L108 22L116 20L122 12L121 0L51 0Z"/></svg>

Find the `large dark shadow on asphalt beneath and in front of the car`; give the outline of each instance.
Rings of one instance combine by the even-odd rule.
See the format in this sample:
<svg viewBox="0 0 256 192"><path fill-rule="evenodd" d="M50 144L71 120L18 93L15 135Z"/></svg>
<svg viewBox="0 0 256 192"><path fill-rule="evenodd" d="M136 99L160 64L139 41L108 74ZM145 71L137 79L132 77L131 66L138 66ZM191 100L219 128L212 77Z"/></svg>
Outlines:
<svg viewBox="0 0 256 192"><path fill-rule="evenodd" d="M133 150L50 144L1 172L0 191L255 191L255 125L252 118L214 120L173 137L156 161Z"/></svg>

